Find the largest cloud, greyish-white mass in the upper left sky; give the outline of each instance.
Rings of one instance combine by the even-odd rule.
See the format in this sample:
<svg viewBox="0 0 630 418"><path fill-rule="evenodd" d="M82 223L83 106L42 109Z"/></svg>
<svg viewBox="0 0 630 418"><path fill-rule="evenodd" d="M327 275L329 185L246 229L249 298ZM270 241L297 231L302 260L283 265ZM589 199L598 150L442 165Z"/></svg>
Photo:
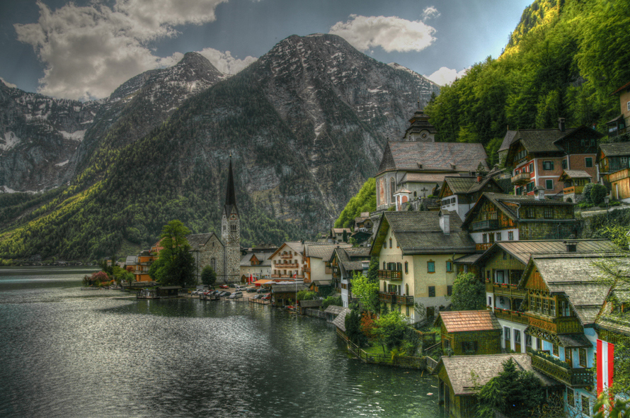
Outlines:
<svg viewBox="0 0 630 418"><path fill-rule="evenodd" d="M38 91L60 98L102 98L135 75L164 67L147 43L174 37L174 26L214 21L227 0L117 0L113 8L72 3L51 11L38 1L38 23L15 25L46 64ZM176 61L175 61L176 62Z"/></svg>

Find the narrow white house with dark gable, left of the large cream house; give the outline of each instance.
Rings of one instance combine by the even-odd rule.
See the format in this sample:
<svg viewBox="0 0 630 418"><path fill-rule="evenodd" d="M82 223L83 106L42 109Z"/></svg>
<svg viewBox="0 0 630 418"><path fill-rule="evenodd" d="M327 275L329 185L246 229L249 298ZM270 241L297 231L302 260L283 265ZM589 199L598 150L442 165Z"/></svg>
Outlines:
<svg viewBox="0 0 630 418"><path fill-rule="evenodd" d="M350 280L355 273L367 274L370 268L369 248L336 248L329 260L333 271L334 287L341 294L341 302L344 307L350 303L358 302L352 293Z"/></svg>

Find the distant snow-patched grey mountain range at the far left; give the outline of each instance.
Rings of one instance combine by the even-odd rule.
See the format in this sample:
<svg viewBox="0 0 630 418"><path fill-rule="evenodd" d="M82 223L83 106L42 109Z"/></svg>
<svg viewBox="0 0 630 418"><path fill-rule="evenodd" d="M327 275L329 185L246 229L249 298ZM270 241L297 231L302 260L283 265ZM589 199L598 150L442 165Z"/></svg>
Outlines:
<svg viewBox="0 0 630 418"><path fill-rule="evenodd" d="M189 52L178 64L133 77L109 98L59 100L0 82L0 186L42 191L68 183L97 147L147 135L190 96L226 78Z"/></svg>

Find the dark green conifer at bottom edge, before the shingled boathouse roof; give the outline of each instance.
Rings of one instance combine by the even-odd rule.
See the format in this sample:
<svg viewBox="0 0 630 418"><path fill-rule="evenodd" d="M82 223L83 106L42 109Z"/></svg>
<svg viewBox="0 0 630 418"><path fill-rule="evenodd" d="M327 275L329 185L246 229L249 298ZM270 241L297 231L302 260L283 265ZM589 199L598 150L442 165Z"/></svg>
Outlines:
<svg viewBox="0 0 630 418"><path fill-rule="evenodd" d="M503 363L503 371L481 387L477 398L480 418L493 418L495 410L511 418L529 418L546 401L546 393L536 375L518 370L510 357Z"/></svg>

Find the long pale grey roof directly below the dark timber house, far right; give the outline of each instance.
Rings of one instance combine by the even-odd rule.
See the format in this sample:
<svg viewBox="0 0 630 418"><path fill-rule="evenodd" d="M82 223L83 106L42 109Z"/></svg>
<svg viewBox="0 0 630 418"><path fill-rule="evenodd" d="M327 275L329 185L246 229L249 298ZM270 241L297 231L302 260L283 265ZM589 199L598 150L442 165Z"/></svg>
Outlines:
<svg viewBox="0 0 630 418"><path fill-rule="evenodd" d="M500 241L495 242L492 247L481 254L479 261L484 261L496 252L503 249L512 255L522 264L527 264L532 254L556 254L561 256L567 254L566 242L575 242L575 253L571 254L593 254L610 253L617 254L619 247L608 239L540 239L532 241ZM459 259L456 260L458 263Z"/></svg>

